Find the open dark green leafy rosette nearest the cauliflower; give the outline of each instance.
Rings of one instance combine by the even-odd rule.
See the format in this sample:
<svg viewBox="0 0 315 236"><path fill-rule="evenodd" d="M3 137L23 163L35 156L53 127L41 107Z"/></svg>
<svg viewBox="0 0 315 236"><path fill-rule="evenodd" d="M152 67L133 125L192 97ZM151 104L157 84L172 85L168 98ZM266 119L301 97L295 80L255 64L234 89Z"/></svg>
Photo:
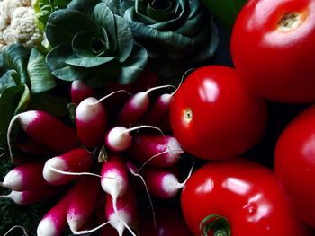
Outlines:
<svg viewBox="0 0 315 236"><path fill-rule="evenodd" d="M67 9L52 13L45 30L52 46L46 57L51 73L92 87L136 80L147 52L118 14L116 4L106 0L73 0Z"/></svg>

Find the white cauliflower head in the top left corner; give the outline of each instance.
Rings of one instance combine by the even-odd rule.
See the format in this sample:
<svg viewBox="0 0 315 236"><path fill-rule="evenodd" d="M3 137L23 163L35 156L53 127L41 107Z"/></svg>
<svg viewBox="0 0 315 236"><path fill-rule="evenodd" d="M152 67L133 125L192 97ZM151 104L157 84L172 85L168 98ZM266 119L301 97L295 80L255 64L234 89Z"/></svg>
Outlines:
<svg viewBox="0 0 315 236"><path fill-rule="evenodd" d="M41 40L31 0L0 1L0 51L13 43L34 47Z"/></svg>

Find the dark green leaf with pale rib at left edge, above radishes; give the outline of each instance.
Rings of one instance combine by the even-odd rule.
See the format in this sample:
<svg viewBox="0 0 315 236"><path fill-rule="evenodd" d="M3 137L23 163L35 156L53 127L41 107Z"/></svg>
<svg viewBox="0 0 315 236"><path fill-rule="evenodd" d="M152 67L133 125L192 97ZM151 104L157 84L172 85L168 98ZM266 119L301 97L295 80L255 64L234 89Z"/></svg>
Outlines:
<svg viewBox="0 0 315 236"><path fill-rule="evenodd" d="M24 85L14 86L6 89L0 97L0 147L6 147L7 140L6 134L9 123L14 115L23 112L26 109L30 101L30 91L28 87ZM14 129L12 135L12 142L16 136L16 130Z"/></svg>

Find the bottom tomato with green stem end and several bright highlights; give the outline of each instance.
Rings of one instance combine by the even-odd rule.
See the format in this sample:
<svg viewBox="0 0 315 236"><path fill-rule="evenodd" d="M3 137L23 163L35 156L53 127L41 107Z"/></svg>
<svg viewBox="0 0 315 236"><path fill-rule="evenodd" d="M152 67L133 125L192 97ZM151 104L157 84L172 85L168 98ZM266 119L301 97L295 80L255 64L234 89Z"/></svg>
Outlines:
<svg viewBox="0 0 315 236"><path fill-rule="evenodd" d="M201 235L200 225L208 233L202 235L311 235L290 211L274 172L246 159L203 165L188 179L181 203L194 235Z"/></svg>

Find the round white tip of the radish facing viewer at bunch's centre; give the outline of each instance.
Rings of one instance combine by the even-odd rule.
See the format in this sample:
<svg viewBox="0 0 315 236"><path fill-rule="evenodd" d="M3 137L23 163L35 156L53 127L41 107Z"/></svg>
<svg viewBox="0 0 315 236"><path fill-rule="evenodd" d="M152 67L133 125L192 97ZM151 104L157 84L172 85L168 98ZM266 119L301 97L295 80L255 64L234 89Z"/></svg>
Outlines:
<svg viewBox="0 0 315 236"><path fill-rule="evenodd" d="M113 127L106 137L106 143L112 151L122 152L130 147L132 137L125 127Z"/></svg>

